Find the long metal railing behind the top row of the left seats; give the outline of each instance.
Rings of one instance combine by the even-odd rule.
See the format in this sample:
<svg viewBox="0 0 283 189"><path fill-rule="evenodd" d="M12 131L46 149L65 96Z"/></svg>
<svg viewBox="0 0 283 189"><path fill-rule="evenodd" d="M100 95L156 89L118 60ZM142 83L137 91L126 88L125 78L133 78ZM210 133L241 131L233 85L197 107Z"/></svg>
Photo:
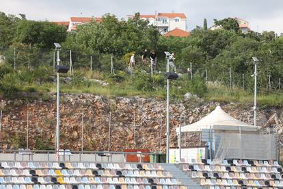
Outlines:
<svg viewBox="0 0 283 189"><path fill-rule="evenodd" d="M157 163L160 153L116 151L52 151L52 150L0 150L0 161L36 162L126 162L128 155L137 162Z"/></svg>

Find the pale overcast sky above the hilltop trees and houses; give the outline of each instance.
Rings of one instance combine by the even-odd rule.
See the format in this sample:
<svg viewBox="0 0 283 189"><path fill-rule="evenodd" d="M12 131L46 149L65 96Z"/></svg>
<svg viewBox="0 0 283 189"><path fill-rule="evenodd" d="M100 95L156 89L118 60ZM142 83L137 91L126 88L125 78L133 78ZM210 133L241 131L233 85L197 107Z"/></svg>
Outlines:
<svg viewBox="0 0 283 189"><path fill-rule="evenodd" d="M126 18L140 12L184 12L189 30L208 27L213 18L238 17L250 21L254 31L283 33L283 0L0 0L0 11L26 14L28 19L68 21L70 16L102 16L105 13Z"/></svg>

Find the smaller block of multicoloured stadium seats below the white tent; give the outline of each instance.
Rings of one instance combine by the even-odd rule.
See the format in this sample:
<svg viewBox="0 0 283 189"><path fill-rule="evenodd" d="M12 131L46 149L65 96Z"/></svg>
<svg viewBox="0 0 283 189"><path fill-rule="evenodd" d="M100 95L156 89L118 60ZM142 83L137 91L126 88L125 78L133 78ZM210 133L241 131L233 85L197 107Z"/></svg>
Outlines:
<svg viewBox="0 0 283 189"><path fill-rule="evenodd" d="M178 167L203 188L283 188L282 166L276 161L192 159L181 160Z"/></svg>

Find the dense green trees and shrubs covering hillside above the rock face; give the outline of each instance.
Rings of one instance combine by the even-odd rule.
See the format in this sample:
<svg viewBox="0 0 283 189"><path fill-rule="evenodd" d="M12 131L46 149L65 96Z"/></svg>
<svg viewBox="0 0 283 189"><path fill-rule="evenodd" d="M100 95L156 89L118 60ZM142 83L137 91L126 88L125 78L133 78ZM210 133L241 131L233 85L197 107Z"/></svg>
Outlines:
<svg viewBox="0 0 283 189"><path fill-rule="evenodd" d="M70 64L72 50L75 69L74 75L64 76L72 77L70 82L63 84L64 92L164 98L166 62L163 51L174 51L178 73L183 75L172 82L172 97L180 98L186 92L192 92L208 100L252 103L254 81L250 75L254 72L252 56L256 56L260 60L260 103L281 105L283 99L278 81L283 76L283 38L276 37L273 31L241 34L239 25L232 18L215 20L215 24L223 29L211 31L205 20L204 28L196 27L187 38L164 38L153 26L139 20L138 14L129 21L118 21L116 16L105 14L103 22L78 25L77 31L67 34L66 28L55 23L27 21L23 14L18 18L1 12L0 55L5 56L5 63L0 67L0 92L5 97L18 97L18 92L23 91L42 94L55 91L53 42L59 42L62 64ZM140 54L144 49L157 51L157 72L153 78L149 65L141 63ZM132 52L135 52L137 62L133 77L127 69ZM111 56L115 74L111 74ZM190 63L192 80L186 74ZM232 88L229 88L229 68ZM101 86L93 79L110 84ZM241 90L243 81L245 90Z"/></svg>

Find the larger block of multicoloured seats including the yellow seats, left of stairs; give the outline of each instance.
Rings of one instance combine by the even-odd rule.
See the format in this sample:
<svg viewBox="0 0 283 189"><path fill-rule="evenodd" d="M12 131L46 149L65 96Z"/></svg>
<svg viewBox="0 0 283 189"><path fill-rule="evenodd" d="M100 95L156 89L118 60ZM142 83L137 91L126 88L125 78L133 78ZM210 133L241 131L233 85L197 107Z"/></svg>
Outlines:
<svg viewBox="0 0 283 189"><path fill-rule="evenodd" d="M187 189L159 164L1 162L0 189Z"/></svg>

